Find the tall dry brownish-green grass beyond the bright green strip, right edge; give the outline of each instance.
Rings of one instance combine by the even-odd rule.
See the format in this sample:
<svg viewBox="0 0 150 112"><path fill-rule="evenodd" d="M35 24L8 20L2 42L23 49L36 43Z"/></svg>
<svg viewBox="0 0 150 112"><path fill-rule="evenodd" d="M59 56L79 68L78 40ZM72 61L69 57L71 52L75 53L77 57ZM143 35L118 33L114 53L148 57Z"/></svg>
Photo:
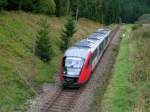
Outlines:
<svg viewBox="0 0 150 112"><path fill-rule="evenodd" d="M130 39L130 62L132 73L129 80L131 82L130 101L132 111L150 111L150 26L143 25L132 32Z"/></svg>

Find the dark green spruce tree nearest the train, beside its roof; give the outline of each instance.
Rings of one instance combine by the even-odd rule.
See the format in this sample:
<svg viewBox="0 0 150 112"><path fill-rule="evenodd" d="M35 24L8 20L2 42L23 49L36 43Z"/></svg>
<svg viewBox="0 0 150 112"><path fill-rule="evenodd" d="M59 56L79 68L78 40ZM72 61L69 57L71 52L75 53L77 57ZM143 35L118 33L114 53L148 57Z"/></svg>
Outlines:
<svg viewBox="0 0 150 112"><path fill-rule="evenodd" d="M75 21L72 17L69 17L68 22L66 23L65 28L63 29L60 37L61 41L59 43L59 47L62 52L64 52L69 47L70 40L75 32Z"/></svg>

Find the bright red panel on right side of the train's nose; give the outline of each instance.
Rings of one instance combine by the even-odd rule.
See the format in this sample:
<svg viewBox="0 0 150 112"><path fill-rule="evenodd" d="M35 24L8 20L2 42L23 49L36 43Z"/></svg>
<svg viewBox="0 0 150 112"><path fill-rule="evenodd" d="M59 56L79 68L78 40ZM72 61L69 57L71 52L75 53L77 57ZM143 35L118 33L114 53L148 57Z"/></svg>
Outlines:
<svg viewBox="0 0 150 112"><path fill-rule="evenodd" d="M89 52L88 57L85 60L85 63L83 65L83 68L82 68L82 71L80 74L80 78L78 80L78 84L85 83L90 77L90 74L92 72L92 63L90 65L88 65L88 62L90 61L91 57L92 57L92 53Z"/></svg>

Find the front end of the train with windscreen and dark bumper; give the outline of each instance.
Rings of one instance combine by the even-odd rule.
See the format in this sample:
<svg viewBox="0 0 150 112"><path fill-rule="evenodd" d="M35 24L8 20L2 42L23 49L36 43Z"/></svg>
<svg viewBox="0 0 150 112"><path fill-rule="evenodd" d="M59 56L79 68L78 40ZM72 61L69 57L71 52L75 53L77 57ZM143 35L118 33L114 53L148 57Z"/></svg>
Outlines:
<svg viewBox="0 0 150 112"><path fill-rule="evenodd" d="M60 80L65 87L76 87L85 81L84 65L87 49L70 48L66 51L60 68Z"/></svg>

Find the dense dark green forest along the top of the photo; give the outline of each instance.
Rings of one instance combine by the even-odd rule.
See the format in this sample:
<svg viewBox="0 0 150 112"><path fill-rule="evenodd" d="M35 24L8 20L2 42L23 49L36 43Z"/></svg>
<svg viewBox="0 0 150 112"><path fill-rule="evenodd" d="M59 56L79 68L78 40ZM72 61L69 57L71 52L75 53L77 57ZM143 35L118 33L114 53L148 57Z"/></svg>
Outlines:
<svg viewBox="0 0 150 112"><path fill-rule="evenodd" d="M0 0L1 10L86 17L101 23L133 23L149 13L149 0Z"/></svg>

